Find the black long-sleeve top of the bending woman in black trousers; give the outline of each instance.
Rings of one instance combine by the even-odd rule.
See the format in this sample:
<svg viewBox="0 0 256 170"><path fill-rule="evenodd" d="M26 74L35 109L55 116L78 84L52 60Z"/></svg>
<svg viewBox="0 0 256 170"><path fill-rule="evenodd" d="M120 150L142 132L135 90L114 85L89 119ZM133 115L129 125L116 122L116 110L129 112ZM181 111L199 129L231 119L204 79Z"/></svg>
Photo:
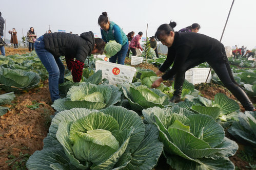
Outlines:
<svg viewBox="0 0 256 170"><path fill-rule="evenodd" d="M168 47L167 58L159 70L164 72L174 63L162 78L167 80L173 77L188 59L201 58L205 62L207 59L220 57L223 47L220 41L203 34L175 32L172 46Z"/></svg>

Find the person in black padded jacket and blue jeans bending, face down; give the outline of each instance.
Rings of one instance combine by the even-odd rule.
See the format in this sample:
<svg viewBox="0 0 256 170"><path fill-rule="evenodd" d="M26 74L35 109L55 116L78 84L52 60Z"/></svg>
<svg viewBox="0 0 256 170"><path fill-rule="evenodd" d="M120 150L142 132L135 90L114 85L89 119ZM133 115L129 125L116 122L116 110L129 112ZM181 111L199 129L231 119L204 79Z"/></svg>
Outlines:
<svg viewBox="0 0 256 170"><path fill-rule="evenodd" d="M34 46L37 56L49 72L49 89L51 100L54 102L60 98L58 84L64 82L65 66L60 57L65 56L73 81L80 82L85 59L91 54L102 54L105 42L101 38L94 38L91 31L80 36L69 33L46 33L35 41Z"/></svg>

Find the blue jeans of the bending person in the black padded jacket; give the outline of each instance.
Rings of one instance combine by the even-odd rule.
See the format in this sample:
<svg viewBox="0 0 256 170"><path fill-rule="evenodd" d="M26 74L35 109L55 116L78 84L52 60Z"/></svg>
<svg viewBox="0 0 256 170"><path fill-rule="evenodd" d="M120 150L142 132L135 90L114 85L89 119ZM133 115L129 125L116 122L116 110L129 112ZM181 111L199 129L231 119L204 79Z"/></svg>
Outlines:
<svg viewBox="0 0 256 170"><path fill-rule="evenodd" d="M65 66L60 58L54 58L49 51L45 50L44 36L35 41L35 52L49 72L49 89L51 101L54 102L60 98L58 84L64 82Z"/></svg>

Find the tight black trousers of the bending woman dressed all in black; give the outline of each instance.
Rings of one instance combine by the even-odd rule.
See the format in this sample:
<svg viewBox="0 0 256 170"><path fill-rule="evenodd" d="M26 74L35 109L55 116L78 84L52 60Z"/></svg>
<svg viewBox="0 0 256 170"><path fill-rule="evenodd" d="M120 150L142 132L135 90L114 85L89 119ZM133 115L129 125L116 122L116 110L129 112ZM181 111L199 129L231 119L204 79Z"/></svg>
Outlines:
<svg viewBox="0 0 256 170"><path fill-rule="evenodd" d="M223 46L224 48L224 46ZM235 82L232 71L230 69L230 65L227 61L227 56L225 53L221 54L221 57L218 57L218 54L216 54L215 58L211 58L206 60L206 62L212 67L212 69L215 71L215 73L218 75L222 83L227 87L227 89L239 100L239 102L243 105L243 107L246 110L252 111L254 109L254 106L250 99L248 98L245 91L242 89L242 87ZM183 66L180 68L180 70L175 75L175 81L174 81L174 93L173 95L180 96L182 93L182 86L185 79L185 72L201 63L205 62L203 59L188 59L185 61Z"/></svg>

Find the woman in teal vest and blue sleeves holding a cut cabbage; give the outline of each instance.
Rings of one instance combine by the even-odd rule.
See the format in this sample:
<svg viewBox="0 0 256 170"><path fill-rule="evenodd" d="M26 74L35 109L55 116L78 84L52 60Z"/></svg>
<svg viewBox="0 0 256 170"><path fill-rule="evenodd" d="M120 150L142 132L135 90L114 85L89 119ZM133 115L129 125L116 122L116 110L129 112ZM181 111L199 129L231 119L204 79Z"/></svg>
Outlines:
<svg viewBox="0 0 256 170"><path fill-rule="evenodd" d="M107 43L110 40L115 40L122 45L122 48L114 56L109 58L109 62L117 64L125 64L125 57L128 51L128 38L123 30L117 26L113 21L109 21L107 12L103 12L98 19L98 23L101 27L102 39Z"/></svg>

